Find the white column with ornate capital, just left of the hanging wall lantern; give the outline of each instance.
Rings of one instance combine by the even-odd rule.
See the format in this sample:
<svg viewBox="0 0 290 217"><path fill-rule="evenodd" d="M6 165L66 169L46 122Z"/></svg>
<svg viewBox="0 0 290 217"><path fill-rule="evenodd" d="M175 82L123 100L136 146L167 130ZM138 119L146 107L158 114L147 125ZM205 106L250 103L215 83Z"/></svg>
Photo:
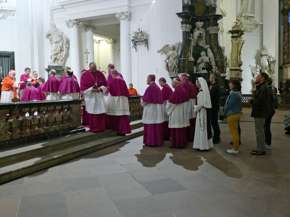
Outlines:
<svg viewBox="0 0 290 217"><path fill-rule="evenodd" d="M132 65L131 65L131 40L130 20L131 13L121 11L116 14L116 18L120 20L120 56L121 56L121 73L126 83L132 82Z"/></svg>

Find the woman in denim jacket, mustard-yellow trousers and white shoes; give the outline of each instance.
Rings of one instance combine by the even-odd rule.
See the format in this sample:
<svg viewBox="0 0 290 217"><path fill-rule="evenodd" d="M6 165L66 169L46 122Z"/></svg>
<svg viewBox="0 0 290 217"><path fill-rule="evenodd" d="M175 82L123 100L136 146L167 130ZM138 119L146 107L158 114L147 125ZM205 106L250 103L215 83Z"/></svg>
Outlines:
<svg viewBox="0 0 290 217"><path fill-rule="evenodd" d="M239 153L239 132L238 132L238 122L241 117L241 104L242 104L242 94L241 94L241 83L237 79L231 80L230 83L230 95L226 100L224 105L225 116L228 116L228 127L233 137L234 147L228 149L228 153L238 154Z"/></svg>

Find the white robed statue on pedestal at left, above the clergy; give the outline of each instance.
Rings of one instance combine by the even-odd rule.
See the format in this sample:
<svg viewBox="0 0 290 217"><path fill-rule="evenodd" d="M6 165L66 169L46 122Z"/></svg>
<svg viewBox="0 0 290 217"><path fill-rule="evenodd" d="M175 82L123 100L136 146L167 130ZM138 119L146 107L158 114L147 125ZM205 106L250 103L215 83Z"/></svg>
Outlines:
<svg viewBox="0 0 290 217"><path fill-rule="evenodd" d="M56 28L55 23L50 23L50 27L51 29L45 35L51 44L51 62L48 65L62 65L67 54L67 36Z"/></svg>

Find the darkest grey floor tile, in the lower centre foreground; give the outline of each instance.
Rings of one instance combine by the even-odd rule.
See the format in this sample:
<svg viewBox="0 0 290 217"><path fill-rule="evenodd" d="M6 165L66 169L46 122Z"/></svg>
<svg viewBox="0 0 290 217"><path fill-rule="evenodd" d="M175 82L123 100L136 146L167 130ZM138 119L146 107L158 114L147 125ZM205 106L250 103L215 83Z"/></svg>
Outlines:
<svg viewBox="0 0 290 217"><path fill-rule="evenodd" d="M187 190L187 188L171 178L146 181L141 182L141 184L153 195Z"/></svg>

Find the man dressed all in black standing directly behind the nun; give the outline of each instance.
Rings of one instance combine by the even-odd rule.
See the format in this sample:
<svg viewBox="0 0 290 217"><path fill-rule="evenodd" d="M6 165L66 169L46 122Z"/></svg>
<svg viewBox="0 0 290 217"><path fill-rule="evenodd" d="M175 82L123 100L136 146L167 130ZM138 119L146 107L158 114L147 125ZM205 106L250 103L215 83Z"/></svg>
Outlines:
<svg viewBox="0 0 290 217"><path fill-rule="evenodd" d="M212 83L212 88L209 92L211 96L212 108L211 111L211 124L213 129L213 143L221 142L221 131L218 126L218 111L219 111L219 99L221 98L221 85L218 83L218 75L217 73L212 73L209 77L209 81Z"/></svg>

